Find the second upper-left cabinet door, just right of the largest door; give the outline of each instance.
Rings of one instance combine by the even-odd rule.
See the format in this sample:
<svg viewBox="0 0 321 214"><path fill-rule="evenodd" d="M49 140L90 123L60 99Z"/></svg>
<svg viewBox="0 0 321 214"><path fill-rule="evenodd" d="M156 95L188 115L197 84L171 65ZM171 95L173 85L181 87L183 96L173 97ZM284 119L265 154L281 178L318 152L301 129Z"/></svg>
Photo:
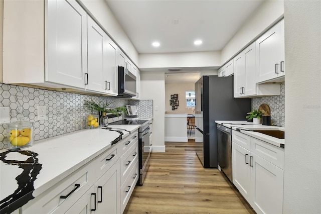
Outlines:
<svg viewBox="0 0 321 214"><path fill-rule="evenodd" d="M107 83L106 33L88 16L88 89L104 92Z"/></svg>

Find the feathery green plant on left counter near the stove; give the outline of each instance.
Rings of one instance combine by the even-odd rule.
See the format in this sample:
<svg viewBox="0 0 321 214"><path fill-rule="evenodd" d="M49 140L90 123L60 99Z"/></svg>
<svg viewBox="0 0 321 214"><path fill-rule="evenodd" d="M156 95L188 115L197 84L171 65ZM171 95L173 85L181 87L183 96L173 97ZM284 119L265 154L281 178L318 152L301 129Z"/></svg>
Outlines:
<svg viewBox="0 0 321 214"><path fill-rule="evenodd" d="M115 116L120 116L121 113L124 113L125 115L127 115L127 109L125 106L120 106L120 107L116 107L116 108L108 108L108 106L111 103L113 103L113 102L85 101L84 105L93 111L97 111L99 113L99 119L101 118L103 113L106 113L106 114L109 113L109 114L112 114ZM98 121L100 123L100 120L98 120Z"/></svg>

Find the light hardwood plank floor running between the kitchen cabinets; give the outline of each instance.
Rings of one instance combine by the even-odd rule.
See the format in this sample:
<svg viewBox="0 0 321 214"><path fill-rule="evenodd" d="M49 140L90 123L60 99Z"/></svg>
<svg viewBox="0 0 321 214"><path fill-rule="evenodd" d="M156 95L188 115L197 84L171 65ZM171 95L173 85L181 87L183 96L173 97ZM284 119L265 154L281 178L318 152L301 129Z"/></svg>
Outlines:
<svg viewBox="0 0 321 214"><path fill-rule="evenodd" d="M124 213L255 213L222 172L203 168L194 140L165 145L166 153L151 154Z"/></svg>

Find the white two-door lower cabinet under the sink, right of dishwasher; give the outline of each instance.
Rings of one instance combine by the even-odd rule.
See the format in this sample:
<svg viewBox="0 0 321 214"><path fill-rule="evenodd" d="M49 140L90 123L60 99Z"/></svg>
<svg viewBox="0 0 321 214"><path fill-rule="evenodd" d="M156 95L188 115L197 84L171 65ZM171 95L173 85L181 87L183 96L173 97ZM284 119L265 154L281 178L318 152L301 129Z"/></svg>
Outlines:
<svg viewBox="0 0 321 214"><path fill-rule="evenodd" d="M250 139L250 150L232 140L233 184L257 213L282 213L284 150Z"/></svg>

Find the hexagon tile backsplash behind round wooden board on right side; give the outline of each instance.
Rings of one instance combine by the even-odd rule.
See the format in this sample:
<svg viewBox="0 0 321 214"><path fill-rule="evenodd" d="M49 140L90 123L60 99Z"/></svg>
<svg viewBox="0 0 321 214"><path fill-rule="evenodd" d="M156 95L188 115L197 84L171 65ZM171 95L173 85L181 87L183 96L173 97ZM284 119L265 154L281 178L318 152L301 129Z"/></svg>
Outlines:
<svg viewBox="0 0 321 214"><path fill-rule="evenodd" d="M270 106L271 120L276 126L285 126L285 84L281 84L280 95L266 96L252 99L252 109L259 109L259 106L266 103Z"/></svg>

